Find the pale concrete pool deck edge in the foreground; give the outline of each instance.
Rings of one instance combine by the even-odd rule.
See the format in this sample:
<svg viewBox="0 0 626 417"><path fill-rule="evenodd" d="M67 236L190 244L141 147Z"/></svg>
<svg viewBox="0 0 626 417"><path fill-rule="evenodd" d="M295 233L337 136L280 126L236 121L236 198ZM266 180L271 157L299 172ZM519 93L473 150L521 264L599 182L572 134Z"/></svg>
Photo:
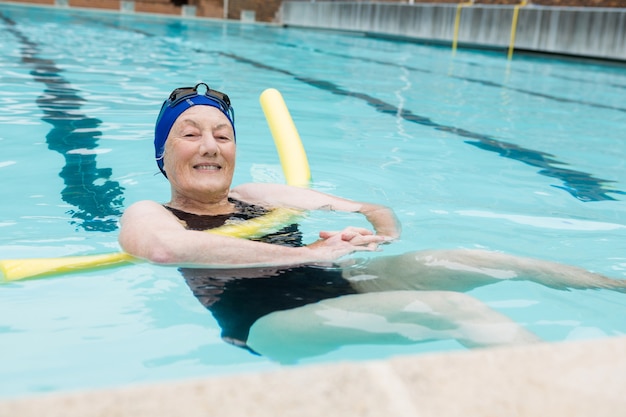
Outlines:
<svg viewBox="0 0 626 417"><path fill-rule="evenodd" d="M623 416L626 337L0 401L1 417Z"/></svg>

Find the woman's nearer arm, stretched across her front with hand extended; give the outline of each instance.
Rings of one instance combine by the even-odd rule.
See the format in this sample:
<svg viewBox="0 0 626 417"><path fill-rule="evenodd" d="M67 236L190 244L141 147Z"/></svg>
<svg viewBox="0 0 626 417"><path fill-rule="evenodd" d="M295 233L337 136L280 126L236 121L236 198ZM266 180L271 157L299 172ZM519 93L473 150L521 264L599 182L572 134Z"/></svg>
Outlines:
<svg viewBox="0 0 626 417"><path fill-rule="evenodd" d="M305 247L286 247L187 230L160 204L141 201L122 216L119 243L127 253L158 264L188 267L256 267L327 262L355 251L374 250L382 236L322 239Z"/></svg>

